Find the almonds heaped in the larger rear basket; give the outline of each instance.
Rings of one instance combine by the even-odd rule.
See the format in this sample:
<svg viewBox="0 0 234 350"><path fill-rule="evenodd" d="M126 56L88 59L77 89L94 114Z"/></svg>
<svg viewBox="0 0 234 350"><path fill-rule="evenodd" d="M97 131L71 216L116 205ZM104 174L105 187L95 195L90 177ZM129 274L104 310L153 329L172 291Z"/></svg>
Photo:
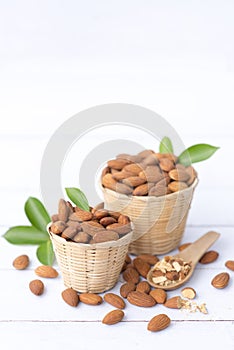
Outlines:
<svg viewBox="0 0 234 350"><path fill-rule="evenodd" d="M194 168L178 163L175 155L145 150L109 160L102 185L126 195L159 197L188 188L196 176Z"/></svg>

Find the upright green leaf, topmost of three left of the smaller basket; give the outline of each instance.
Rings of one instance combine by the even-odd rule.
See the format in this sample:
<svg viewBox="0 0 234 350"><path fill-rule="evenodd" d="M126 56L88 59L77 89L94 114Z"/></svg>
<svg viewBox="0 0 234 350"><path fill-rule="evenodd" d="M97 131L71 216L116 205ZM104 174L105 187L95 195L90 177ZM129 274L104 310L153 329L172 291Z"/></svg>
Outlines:
<svg viewBox="0 0 234 350"><path fill-rule="evenodd" d="M25 213L31 224L40 231L46 231L47 224L51 221L47 210L39 199L29 197L24 206Z"/></svg>

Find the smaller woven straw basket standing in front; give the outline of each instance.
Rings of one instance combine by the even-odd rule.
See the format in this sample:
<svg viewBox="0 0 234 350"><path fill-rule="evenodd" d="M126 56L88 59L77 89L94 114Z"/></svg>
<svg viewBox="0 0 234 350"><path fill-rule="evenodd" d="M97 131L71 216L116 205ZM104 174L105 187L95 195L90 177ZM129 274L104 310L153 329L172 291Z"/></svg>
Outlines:
<svg viewBox="0 0 234 350"><path fill-rule="evenodd" d="M98 244L68 242L53 233L50 237L65 286L101 293L117 283L132 232L118 241Z"/></svg>

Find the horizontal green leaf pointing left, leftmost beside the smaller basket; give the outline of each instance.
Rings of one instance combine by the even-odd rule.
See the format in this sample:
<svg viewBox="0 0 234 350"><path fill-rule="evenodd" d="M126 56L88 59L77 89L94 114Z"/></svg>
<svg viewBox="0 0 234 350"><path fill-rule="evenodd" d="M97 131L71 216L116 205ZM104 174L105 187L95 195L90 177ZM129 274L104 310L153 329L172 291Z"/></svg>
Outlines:
<svg viewBox="0 0 234 350"><path fill-rule="evenodd" d="M49 235L33 226L14 226L3 237L12 244L41 244L48 240Z"/></svg>

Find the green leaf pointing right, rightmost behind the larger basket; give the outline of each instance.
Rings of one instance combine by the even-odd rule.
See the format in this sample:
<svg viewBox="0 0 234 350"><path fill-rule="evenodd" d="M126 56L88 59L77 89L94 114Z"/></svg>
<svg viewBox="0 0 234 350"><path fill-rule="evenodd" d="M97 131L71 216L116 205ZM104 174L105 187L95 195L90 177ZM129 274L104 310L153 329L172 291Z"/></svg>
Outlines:
<svg viewBox="0 0 234 350"><path fill-rule="evenodd" d="M191 163L201 162L210 158L219 147L200 143L187 148L179 155L179 163L188 166Z"/></svg>

